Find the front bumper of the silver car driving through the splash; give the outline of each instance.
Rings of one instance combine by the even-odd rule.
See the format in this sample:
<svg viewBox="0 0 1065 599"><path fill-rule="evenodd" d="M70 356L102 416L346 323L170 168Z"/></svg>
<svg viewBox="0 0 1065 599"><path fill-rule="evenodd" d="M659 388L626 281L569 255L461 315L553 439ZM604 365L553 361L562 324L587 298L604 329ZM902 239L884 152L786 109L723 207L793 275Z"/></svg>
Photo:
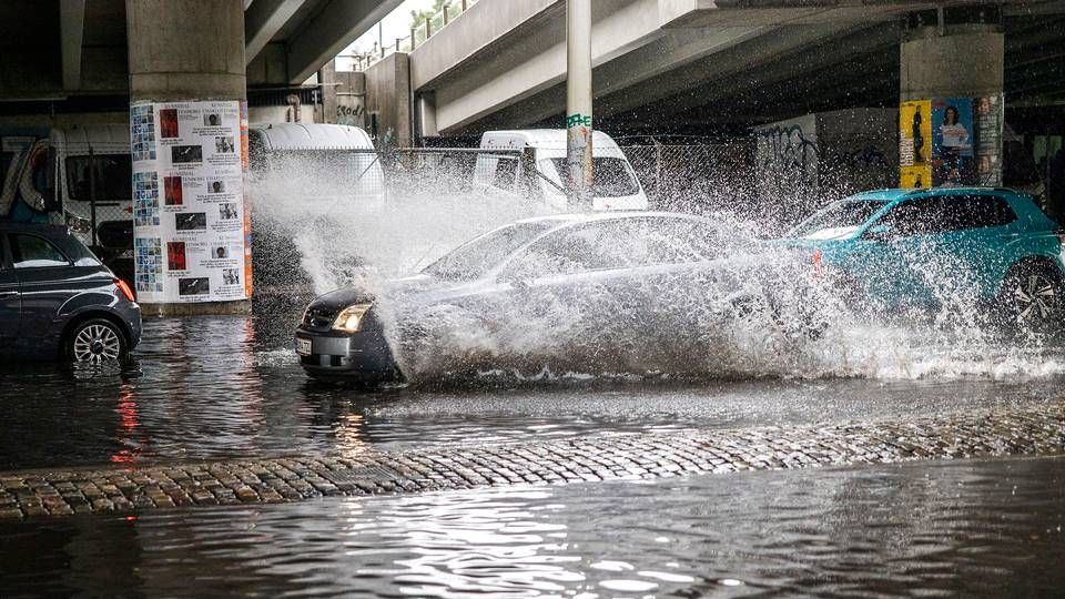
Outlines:
<svg viewBox="0 0 1065 599"><path fill-rule="evenodd" d="M310 353L301 353L303 348ZM313 378L386 382L398 378L388 342L379 331L358 333L320 333L296 329L296 353L300 364Z"/></svg>

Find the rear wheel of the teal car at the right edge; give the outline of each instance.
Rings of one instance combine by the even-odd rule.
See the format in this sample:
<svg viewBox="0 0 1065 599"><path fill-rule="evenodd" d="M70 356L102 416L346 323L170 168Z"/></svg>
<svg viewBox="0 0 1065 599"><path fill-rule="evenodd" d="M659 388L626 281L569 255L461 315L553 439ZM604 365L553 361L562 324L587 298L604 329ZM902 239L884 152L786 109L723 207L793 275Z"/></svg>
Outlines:
<svg viewBox="0 0 1065 599"><path fill-rule="evenodd" d="M998 292L1002 323L1031 333L1062 329L1065 316L1065 281L1057 270L1041 264L1022 264L1010 271Z"/></svg>

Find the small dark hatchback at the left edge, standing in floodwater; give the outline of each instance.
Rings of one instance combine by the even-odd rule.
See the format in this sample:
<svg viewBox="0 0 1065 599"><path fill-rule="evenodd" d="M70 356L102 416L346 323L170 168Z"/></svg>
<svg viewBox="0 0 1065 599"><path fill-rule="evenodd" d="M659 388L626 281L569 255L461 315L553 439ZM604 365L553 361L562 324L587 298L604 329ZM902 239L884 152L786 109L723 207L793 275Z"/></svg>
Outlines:
<svg viewBox="0 0 1065 599"><path fill-rule="evenodd" d="M0 223L0 353L101 363L140 338L129 285L65 226Z"/></svg>

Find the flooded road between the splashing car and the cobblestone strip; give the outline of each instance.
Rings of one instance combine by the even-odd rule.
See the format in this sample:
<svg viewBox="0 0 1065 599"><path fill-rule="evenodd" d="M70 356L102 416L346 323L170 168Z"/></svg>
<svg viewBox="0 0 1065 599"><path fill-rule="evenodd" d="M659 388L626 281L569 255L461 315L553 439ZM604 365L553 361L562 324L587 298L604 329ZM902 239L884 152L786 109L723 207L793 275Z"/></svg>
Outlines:
<svg viewBox="0 0 1065 599"><path fill-rule="evenodd" d="M1001 378L993 365L916 380L489 378L367 392L305 376L291 346L298 314L148 321L134 373L9 366L0 470L897 419L1055 400L1065 382Z"/></svg>

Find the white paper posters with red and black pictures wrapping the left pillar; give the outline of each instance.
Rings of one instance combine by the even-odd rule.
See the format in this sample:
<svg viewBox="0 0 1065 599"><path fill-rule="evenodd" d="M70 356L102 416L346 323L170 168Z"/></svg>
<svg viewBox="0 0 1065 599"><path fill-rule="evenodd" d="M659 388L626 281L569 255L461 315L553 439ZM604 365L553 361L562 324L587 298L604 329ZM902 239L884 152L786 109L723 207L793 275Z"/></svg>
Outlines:
<svg viewBox="0 0 1065 599"><path fill-rule="evenodd" d="M242 110L239 101L131 106L140 302L250 296Z"/></svg>

